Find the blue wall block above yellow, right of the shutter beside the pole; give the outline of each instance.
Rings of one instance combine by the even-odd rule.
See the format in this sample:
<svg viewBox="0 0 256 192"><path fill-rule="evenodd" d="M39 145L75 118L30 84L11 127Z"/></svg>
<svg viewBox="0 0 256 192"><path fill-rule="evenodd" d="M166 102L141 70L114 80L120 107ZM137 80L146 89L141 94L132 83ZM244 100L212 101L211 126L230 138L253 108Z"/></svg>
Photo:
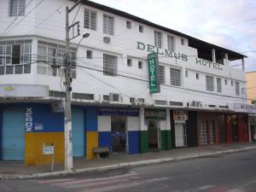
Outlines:
<svg viewBox="0 0 256 192"><path fill-rule="evenodd" d="M98 108L86 107L85 127L86 131L98 131Z"/></svg>

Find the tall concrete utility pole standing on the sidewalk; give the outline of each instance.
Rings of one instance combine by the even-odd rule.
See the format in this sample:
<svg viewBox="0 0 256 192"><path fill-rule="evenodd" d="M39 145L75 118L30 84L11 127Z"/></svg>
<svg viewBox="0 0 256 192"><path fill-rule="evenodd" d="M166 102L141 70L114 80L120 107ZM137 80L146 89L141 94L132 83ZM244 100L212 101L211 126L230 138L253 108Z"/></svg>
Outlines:
<svg viewBox="0 0 256 192"><path fill-rule="evenodd" d="M73 5L71 9L66 7L66 55L65 55L65 82L64 86L66 88L65 93L65 170L70 171L73 169L73 136L72 136L72 114L71 114L71 91L72 91L72 61L71 54L69 50L69 41L73 38L79 36L79 22L73 23L69 26L68 14L82 1L78 1ZM78 25L78 34L72 38L69 38L69 31L75 25Z"/></svg>

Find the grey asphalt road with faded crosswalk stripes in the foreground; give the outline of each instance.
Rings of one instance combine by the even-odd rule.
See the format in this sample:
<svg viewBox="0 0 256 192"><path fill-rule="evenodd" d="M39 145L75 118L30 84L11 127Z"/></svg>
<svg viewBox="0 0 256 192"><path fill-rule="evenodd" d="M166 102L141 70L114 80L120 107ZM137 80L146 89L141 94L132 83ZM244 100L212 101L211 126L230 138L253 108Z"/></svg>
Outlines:
<svg viewBox="0 0 256 192"><path fill-rule="evenodd" d="M256 192L256 150L67 177L0 181L1 192Z"/></svg>

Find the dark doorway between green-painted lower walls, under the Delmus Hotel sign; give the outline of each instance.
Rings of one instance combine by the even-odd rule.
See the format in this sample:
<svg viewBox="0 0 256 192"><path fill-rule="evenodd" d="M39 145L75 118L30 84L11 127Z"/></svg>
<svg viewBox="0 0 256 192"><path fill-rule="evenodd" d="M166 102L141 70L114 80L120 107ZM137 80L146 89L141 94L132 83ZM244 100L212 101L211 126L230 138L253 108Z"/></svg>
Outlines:
<svg viewBox="0 0 256 192"><path fill-rule="evenodd" d="M160 148L160 121L148 119L148 148L149 150L157 150Z"/></svg>

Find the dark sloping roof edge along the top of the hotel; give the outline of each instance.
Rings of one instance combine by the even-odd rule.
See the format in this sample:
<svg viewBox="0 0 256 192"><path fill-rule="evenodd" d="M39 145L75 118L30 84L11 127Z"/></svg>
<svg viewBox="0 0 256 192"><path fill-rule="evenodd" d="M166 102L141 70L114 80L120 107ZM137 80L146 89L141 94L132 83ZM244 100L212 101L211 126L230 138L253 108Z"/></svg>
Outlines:
<svg viewBox="0 0 256 192"><path fill-rule="evenodd" d="M210 44L210 43L207 43L205 41L202 41L201 39L198 39L198 38L193 38L187 34L184 34L182 32L177 32L175 30L172 30L170 28L167 28L165 26L160 26L160 25L157 25L153 22L150 22L148 20L144 20L140 17L137 17L135 15L131 15L131 14L128 14L126 13L125 11L121 11L121 10L118 10L118 9L113 9L113 8L110 8L106 5L102 5L100 3L95 3L95 2L91 2L91 1L88 1L88 0L82 0L82 3L84 3L85 5L88 5L90 7L93 7L93 8L96 8L96 9L101 9L103 11L106 11L108 13L112 13L113 15L119 15L119 16L122 16L122 17L125 17L127 19L130 19L130 20L135 20L139 23L142 23L142 24L145 24L145 25L148 25L148 26L152 26L154 28L158 28L160 30L163 30L165 32L170 32L172 34L176 34L178 36L182 36L184 38L188 38L190 41L193 41L193 42L196 42L197 44L203 44L203 46L207 47L207 48L214 48L214 49L218 49L218 50L222 50L224 53L228 53L229 54L229 57L233 57L233 58L236 58L236 59L242 59L244 57L247 57L246 55L242 55L234 50L230 50L230 49L225 49L223 47L220 47L218 45L215 45L215 44Z"/></svg>

